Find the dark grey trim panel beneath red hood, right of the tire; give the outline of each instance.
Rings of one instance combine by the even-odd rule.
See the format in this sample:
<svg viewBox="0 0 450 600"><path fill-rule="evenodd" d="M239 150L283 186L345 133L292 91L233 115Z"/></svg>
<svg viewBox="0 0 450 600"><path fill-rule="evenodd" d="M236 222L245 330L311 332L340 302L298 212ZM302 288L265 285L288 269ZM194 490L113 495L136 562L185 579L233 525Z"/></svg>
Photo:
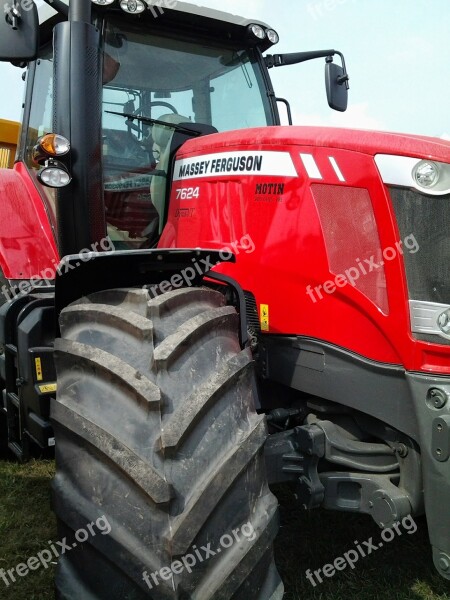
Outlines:
<svg viewBox="0 0 450 600"><path fill-rule="evenodd" d="M419 441L401 365L379 363L313 338L264 335L260 341L263 378L359 410Z"/></svg>

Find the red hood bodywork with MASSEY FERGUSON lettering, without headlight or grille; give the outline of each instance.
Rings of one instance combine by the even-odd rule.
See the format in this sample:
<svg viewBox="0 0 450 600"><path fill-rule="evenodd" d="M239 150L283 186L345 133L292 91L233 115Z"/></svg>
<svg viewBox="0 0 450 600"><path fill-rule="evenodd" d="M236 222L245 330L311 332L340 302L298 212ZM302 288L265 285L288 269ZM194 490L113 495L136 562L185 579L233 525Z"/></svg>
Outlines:
<svg viewBox="0 0 450 600"><path fill-rule="evenodd" d="M249 152L264 155L260 170L230 174L220 162L227 153L238 157ZM266 152L282 156L280 168ZM216 269L255 295L268 333L309 336L375 361L448 374L450 346L420 342L410 333L400 236L374 162L378 153L448 162L450 144L312 127L242 130L190 141L177 155L169 220L159 246L229 248L236 264ZM212 162L213 155L220 155L219 163ZM190 163L192 170L180 175L180 168ZM333 202L327 204L328 193ZM348 226L348 240L339 241L342 252L332 257L325 238L334 243L333 219L338 222L349 212L350 201L352 211L362 211L358 229L365 237L355 237L355 227ZM330 212L333 203L335 212ZM340 224L341 234L346 227ZM373 255L392 248L395 257L391 252L377 273L360 272L356 286L347 283L333 293L322 288L322 298L316 294L314 301L308 286L334 280L333 261L342 265L338 273L345 265L359 266L368 256L367 240L373 241Z"/></svg>

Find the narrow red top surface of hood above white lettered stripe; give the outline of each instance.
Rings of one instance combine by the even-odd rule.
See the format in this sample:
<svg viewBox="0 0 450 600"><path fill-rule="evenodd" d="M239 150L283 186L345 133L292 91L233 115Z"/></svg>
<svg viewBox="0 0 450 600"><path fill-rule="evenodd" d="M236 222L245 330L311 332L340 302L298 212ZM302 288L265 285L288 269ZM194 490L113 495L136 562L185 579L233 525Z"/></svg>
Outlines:
<svg viewBox="0 0 450 600"><path fill-rule="evenodd" d="M262 127L209 135L187 142L178 156L209 153L230 146L314 146L375 156L395 154L450 161L450 141L426 136L331 127Z"/></svg>

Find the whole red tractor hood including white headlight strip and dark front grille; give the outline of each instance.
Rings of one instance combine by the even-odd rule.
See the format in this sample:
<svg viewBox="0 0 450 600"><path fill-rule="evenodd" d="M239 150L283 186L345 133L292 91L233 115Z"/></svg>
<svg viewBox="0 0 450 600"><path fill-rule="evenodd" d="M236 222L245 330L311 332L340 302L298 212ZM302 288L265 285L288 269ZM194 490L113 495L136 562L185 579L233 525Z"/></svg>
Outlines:
<svg viewBox="0 0 450 600"><path fill-rule="evenodd" d="M159 244L216 250L250 235L251 256L239 251L236 265L220 269L246 290L262 279L254 273L271 282L256 294L271 315L264 331L302 332L371 360L448 374L449 200L449 141L320 127L236 130L181 147ZM378 266L370 273L320 298L332 296L330 315L341 303L351 314L330 325L308 285L371 257ZM286 298L296 298L294 316Z"/></svg>

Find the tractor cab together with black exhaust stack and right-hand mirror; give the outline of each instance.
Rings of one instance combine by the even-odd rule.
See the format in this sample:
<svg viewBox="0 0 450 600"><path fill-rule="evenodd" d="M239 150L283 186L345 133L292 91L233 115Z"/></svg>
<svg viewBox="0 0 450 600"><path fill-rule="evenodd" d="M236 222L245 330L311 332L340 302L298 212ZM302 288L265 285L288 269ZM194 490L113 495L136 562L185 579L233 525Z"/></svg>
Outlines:
<svg viewBox="0 0 450 600"><path fill-rule="evenodd" d="M62 255L105 232L117 249L154 247L167 218L171 158L184 141L279 125L278 102L287 106L290 119L289 103L275 97L268 68L326 58L330 106L346 107L345 63L342 68L333 63L340 53L263 56L279 38L262 22L184 2L165 8L102 0L87 7L84 15L72 8L70 16L61 0L44 4L39 50L31 48L30 36L23 39L25 54L36 60L29 62L18 158L46 204ZM33 27L30 11L16 21L20 55L20 35ZM85 39L89 23L92 39ZM65 31L69 25L79 33ZM8 21L4 28L11 37ZM0 48L5 52L8 48ZM53 157L58 164L53 161L50 170L46 163L52 157L36 150L48 133L63 135L71 148ZM69 182L72 192L55 193ZM80 213L76 224L74 210Z"/></svg>

